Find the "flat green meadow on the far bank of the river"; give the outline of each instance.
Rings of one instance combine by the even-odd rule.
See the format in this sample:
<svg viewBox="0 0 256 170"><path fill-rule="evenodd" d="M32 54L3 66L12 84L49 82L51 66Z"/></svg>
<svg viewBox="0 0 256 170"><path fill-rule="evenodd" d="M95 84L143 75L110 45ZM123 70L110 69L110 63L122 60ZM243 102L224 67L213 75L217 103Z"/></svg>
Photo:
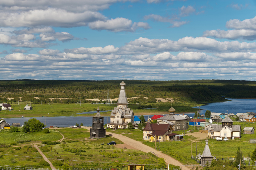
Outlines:
<svg viewBox="0 0 256 170"><path fill-rule="evenodd" d="M150 104L150 103L149 103ZM96 114L97 107L99 106L101 111L108 111L101 113L101 116L110 116L111 110L116 107L115 104L111 106L106 105L95 105L95 104L83 104L81 106L76 105L75 103L72 104L64 104L64 103L53 103L53 105L47 104L32 104L33 110L23 110L25 107L25 103L12 104L11 107L13 110L3 110L1 111L1 117L10 118L10 117L41 117L47 116L93 116ZM155 114L166 114L169 113L168 110L171 107L170 103L159 103L154 104L153 108L156 109L138 109L138 107L143 105L128 105L134 110L135 115L155 115ZM147 106L147 105L146 105ZM177 105L175 106L177 113L184 113L184 112L195 112L195 108L192 108L194 105ZM92 114L82 114L76 115L76 113L82 112L89 112L95 111Z"/></svg>

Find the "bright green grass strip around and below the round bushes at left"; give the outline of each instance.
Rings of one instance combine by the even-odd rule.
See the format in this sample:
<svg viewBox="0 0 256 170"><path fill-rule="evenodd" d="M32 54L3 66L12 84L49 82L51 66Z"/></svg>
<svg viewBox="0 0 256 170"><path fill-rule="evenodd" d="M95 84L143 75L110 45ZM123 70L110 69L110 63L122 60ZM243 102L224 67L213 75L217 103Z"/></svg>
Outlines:
<svg viewBox="0 0 256 170"><path fill-rule="evenodd" d="M1 144L10 144L11 142L16 142L19 140L32 140L31 142L29 142L32 143L45 140L57 141L62 139L62 135L56 130L50 130L50 133L47 134L43 132L23 133L21 131L10 133L9 130L2 130L0 131L0 136Z"/></svg>

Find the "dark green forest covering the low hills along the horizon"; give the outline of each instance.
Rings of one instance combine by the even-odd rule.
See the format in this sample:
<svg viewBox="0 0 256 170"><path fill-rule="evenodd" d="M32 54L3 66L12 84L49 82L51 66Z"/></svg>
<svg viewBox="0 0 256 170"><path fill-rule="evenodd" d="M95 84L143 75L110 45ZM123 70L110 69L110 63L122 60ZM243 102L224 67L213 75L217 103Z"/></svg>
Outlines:
<svg viewBox="0 0 256 170"><path fill-rule="evenodd" d="M0 103L31 101L33 103L82 103L107 93L111 99L119 97L122 80L11 80L0 81ZM186 80L144 81L124 80L127 98L131 103L155 103L156 98L173 98L180 103L207 103L226 98L256 98L256 81L239 80ZM22 98L21 98L22 97ZM50 99L54 98L54 99Z"/></svg>

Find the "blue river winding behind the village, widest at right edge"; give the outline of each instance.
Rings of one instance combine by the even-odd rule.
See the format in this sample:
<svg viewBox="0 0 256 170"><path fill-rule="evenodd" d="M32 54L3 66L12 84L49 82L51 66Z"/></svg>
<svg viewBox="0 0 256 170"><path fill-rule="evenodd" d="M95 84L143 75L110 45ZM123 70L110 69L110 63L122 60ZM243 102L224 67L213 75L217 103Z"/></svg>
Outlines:
<svg viewBox="0 0 256 170"><path fill-rule="evenodd" d="M210 110L211 112L219 112L219 113L245 113L245 112L256 112L256 99L231 99L228 98L231 101L227 102L216 102L216 103L208 103L204 106L201 106L202 109L200 111L200 114L204 114L206 110ZM175 108L175 106L173 106ZM197 107L195 107L197 108ZM93 111L90 113L96 113L97 111ZM106 111L100 111L100 112L106 112ZM88 113L88 112L86 112ZM77 113L77 114L86 114L86 113ZM189 117L193 117L194 113L187 113ZM148 116L145 116L145 120L148 120ZM149 118L151 118L153 115L149 115ZM139 116L138 116L139 117ZM25 121L28 121L31 118L36 118L40 122L44 123L46 127L50 126L58 126L58 127L67 127L70 125L75 125L78 123L79 125L83 123L84 126L92 126L92 117L86 117L86 116L78 116L78 117L66 117L66 116L60 116L60 117L18 117L18 118L1 118L4 119L7 123L10 125L15 122L19 122L21 125ZM49 123L48 123L49 121ZM110 123L110 117L104 117L104 124Z"/></svg>

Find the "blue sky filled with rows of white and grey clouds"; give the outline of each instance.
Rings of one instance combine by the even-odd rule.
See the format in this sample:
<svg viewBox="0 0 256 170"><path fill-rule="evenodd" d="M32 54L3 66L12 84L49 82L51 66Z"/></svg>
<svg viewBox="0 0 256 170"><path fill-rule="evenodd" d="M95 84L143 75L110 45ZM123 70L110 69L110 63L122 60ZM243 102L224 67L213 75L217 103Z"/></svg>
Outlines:
<svg viewBox="0 0 256 170"><path fill-rule="evenodd" d="M256 0L1 0L0 80L256 80Z"/></svg>

